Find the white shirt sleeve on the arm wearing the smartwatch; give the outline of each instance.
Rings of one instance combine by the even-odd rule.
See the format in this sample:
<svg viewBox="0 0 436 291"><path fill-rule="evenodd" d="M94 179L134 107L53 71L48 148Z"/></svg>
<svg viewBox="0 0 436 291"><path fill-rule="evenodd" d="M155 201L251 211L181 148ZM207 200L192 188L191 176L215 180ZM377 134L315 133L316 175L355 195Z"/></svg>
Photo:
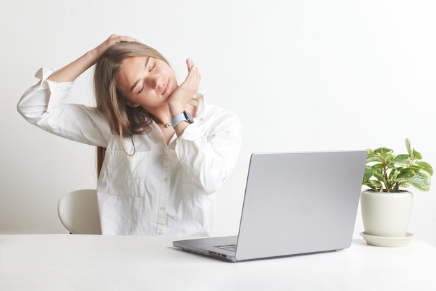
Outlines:
<svg viewBox="0 0 436 291"><path fill-rule="evenodd" d="M217 191L233 170L241 148L241 133L235 113L212 107L178 137L177 157L205 194Z"/></svg>

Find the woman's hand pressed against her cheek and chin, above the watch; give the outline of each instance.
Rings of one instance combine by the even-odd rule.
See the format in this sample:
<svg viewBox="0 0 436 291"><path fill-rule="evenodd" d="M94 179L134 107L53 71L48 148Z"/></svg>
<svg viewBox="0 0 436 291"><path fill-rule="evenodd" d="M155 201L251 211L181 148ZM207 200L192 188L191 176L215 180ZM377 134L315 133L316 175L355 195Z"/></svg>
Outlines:
<svg viewBox="0 0 436 291"><path fill-rule="evenodd" d="M188 75L168 100L171 116L176 116L185 110L187 103L198 93L198 86L200 86L201 77L198 68L190 58L186 60L186 63Z"/></svg>

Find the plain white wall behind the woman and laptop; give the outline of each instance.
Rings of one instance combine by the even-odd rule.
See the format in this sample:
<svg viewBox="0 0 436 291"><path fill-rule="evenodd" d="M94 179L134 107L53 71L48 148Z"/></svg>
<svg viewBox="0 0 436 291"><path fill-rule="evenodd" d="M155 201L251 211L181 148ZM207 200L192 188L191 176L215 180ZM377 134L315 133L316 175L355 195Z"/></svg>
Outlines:
<svg viewBox="0 0 436 291"><path fill-rule="evenodd" d="M31 126L15 107L38 68L111 33L155 47L180 79L192 57L208 102L240 116L242 152L219 191L214 235L238 230L251 152L403 151L409 137L436 166L435 14L432 0L10 1L0 10L0 233L66 233L57 200L95 187L94 148ZM70 102L93 104L89 72ZM436 246L436 187L414 197L409 231Z"/></svg>

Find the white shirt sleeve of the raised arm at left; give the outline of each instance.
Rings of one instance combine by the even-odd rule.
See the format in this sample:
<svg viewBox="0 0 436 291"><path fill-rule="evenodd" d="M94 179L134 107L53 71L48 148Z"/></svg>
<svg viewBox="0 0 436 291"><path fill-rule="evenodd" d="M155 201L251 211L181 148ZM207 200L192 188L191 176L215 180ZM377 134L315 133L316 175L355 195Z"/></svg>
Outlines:
<svg viewBox="0 0 436 291"><path fill-rule="evenodd" d="M91 146L106 146L110 132L104 116L95 107L65 104L73 82L56 83L47 80L55 70L41 68L31 86L17 104L17 111L29 123L72 141Z"/></svg>

